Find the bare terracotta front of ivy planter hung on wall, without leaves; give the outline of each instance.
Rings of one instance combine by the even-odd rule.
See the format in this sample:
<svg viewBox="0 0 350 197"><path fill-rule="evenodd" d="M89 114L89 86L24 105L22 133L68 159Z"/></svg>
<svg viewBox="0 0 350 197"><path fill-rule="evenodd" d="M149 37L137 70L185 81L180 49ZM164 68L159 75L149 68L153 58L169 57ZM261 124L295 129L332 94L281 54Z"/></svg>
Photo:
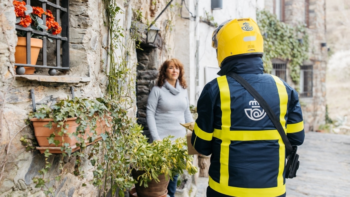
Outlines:
<svg viewBox="0 0 350 197"><path fill-rule="evenodd" d="M77 117L73 118L67 118L65 125L69 125L67 133L74 133L77 130L77 127L79 126L75 121L77 120ZM36 137L36 140L38 141L38 144L40 147L37 147L38 150L40 150L41 153L45 151L45 149L49 149L51 153L62 153L61 146L62 146L62 137L58 135L58 132L61 130L61 128L57 128L57 125L54 123L54 120L51 118L44 118L44 119L37 119L37 118L31 118L30 121L33 122L34 126L34 134ZM52 128L49 129L47 127L44 127L44 125L47 125L49 121L52 122ZM51 134L55 134L55 140L60 141L60 143L55 146L55 144L49 144L48 137L50 137ZM78 141L76 137L72 136L70 138L68 134L63 135L64 143L69 143L69 147L72 148L72 152L78 150L80 147L76 147L76 144Z"/></svg>

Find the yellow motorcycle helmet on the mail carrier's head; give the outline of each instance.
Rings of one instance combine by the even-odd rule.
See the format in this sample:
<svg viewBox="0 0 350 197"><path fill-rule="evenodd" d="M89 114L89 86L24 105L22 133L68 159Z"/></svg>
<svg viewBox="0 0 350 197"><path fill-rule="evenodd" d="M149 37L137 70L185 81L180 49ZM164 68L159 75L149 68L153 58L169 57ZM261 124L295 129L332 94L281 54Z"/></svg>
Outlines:
<svg viewBox="0 0 350 197"><path fill-rule="evenodd" d="M219 67L227 60L245 55L264 55L264 40L257 23L251 18L223 22L213 32Z"/></svg>

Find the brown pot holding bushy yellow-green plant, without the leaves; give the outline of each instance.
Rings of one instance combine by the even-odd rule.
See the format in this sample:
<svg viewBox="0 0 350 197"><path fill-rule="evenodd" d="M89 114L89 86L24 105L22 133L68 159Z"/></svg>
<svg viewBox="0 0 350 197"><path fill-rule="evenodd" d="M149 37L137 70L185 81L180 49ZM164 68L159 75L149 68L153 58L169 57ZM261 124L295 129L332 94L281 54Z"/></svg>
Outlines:
<svg viewBox="0 0 350 197"><path fill-rule="evenodd" d="M142 174L144 174L145 171L142 170L135 170L133 169L131 171L132 177L138 181L138 177ZM168 178L168 181L165 178L165 175L159 175L158 176L159 182L155 182L154 179L152 179L151 182L148 182L148 187L145 188L144 186L140 186L140 183L135 184L135 190L137 193L137 196L139 197L160 197L160 196L166 196L168 193L168 184L170 181L170 178Z"/></svg>

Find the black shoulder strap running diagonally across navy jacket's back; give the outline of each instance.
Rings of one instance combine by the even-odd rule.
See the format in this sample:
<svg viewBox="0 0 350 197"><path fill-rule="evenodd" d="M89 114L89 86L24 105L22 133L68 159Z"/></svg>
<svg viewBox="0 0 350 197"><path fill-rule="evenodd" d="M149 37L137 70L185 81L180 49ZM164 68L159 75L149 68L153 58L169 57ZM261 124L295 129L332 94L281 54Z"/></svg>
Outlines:
<svg viewBox="0 0 350 197"><path fill-rule="evenodd" d="M273 122L276 129L278 130L278 133L280 133L282 140L286 146L287 156L290 155L293 152L292 145L290 144L287 138L287 135L282 127L282 124L279 118L276 116L276 114L271 109L271 107L267 104L265 99L262 98L262 96L257 92L257 90L255 90L245 79L243 79L243 77L233 72L229 72L226 75L238 81L246 90L248 90L248 92L254 97L254 99L258 101L262 109L266 111L266 114L268 115L268 117L270 117L271 121Z"/></svg>

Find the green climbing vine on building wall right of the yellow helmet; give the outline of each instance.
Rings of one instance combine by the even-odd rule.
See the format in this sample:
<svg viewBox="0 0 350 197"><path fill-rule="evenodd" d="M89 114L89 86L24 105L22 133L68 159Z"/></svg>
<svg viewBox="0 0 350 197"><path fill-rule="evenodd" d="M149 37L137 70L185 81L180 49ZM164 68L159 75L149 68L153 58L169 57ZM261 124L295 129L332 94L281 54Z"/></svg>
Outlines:
<svg viewBox="0 0 350 197"><path fill-rule="evenodd" d="M290 77L298 84L300 66L308 59L309 42L304 25L291 26L279 21L276 15L267 11L257 12L257 22L264 37L265 72L272 70L272 59L288 60Z"/></svg>

